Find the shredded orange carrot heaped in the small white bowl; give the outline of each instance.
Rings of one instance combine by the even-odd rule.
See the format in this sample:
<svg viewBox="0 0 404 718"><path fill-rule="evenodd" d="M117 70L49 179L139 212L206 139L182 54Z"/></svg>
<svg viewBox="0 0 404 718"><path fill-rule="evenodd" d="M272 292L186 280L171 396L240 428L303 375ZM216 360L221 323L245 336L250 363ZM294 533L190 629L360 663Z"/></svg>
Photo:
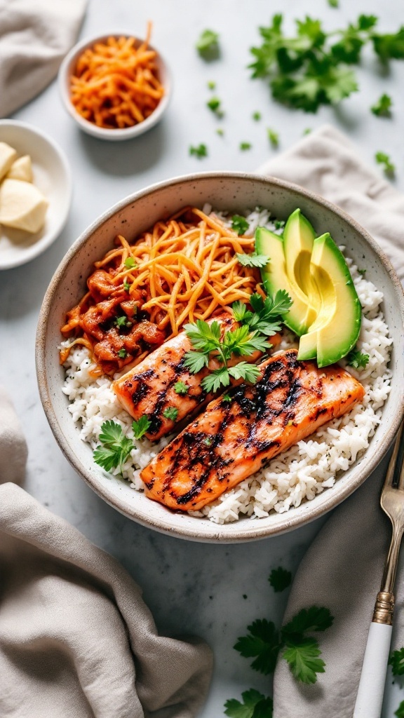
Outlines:
<svg viewBox="0 0 404 718"><path fill-rule="evenodd" d="M134 37L109 37L82 52L70 78L71 101L89 122L124 129L143 122L164 95L157 53L150 50L151 24L140 44Z"/></svg>

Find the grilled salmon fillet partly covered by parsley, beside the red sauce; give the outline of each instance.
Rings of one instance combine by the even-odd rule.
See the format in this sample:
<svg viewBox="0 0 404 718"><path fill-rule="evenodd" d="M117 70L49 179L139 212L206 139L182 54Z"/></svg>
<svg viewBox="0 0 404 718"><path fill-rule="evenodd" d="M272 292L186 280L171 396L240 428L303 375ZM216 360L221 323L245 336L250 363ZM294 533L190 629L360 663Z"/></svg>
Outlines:
<svg viewBox="0 0 404 718"><path fill-rule="evenodd" d="M239 326L230 314L221 314L219 317L215 317L215 320L221 323L223 332ZM208 323L211 324L213 321ZM268 338L272 346L280 341L280 335ZM116 396L128 414L134 419L145 415L151 421L150 428L146 432L147 439L156 441L165 434L169 434L173 431L175 424L214 397L213 393L207 394L203 390L201 381L209 371L219 368L220 364L216 360L211 360L208 368L203 368L197 374L191 374L184 366L184 358L192 348L185 332L180 332L112 384ZM262 353L254 352L250 356L234 358L229 365L239 361L254 363L260 356ZM178 382L186 385L186 393L175 391L175 385ZM236 383L235 380L232 383ZM167 409L177 410L175 421L165 416Z"/></svg>

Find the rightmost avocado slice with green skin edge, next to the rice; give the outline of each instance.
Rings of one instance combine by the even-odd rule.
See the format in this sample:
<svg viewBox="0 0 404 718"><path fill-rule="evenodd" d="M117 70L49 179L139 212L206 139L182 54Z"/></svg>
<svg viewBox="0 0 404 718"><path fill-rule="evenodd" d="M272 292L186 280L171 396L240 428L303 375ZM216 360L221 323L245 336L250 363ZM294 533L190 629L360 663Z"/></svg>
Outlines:
<svg viewBox="0 0 404 718"><path fill-rule="evenodd" d="M298 359L313 359L319 367L334 364L354 347L362 307L352 276L329 233L314 240L310 272L321 296L321 308L309 332L300 337Z"/></svg>

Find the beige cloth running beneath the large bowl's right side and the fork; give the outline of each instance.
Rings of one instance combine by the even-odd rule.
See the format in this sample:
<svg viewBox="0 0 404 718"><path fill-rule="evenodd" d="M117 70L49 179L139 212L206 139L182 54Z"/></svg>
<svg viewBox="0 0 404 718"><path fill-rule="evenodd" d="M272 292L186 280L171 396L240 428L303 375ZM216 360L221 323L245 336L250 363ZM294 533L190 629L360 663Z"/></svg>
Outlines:
<svg viewBox="0 0 404 718"><path fill-rule="evenodd" d="M377 177L352 143L331 126L313 132L259 170L318 192L351 214L380 243L404 279L404 195ZM326 672L314 686L298 684L280 659L274 680L274 718L352 718L364 648L390 525L379 498L387 460L336 509L316 536L293 582L285 622L301 608L323 605L335 620L320 634ZM400 574L399 574L400 579ZM401 605L404 587L398 580ZM396 616L393 645L404 645Z"/></svg>

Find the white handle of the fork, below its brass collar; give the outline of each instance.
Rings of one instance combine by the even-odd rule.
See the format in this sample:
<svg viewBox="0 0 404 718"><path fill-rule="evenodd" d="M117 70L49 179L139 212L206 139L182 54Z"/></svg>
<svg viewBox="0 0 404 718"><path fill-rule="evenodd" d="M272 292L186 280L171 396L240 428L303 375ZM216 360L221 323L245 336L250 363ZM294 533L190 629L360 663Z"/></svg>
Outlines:
<svg viewBox="0 0 404 718"><path fill-rule="evenodd" d="M371 623L364 651L354 718L380 718L392 626Z"/></svg>

